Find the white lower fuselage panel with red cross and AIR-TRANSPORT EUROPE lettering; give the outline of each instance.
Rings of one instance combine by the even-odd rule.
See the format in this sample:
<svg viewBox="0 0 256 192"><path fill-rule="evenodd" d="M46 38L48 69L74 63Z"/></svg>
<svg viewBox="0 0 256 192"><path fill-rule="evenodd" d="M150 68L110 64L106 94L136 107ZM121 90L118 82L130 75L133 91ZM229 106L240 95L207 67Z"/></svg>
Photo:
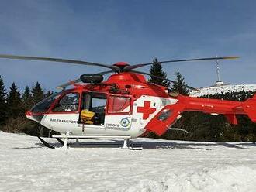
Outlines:
<svg viewBox="0 0 256 192"><path fill-rule="evenodd" d="M133 111L130 115L118 113L106 115L103 125L88 125L79 123L79 113L59 113L44 115L40 124L65 134L74 135L130 135L136 138L142 135L148 122L166 105L174 105L178 100L141 96L133 102ZM148 112L148 108L151 112ZM124 109L125 111L126 109Z"/></svg>

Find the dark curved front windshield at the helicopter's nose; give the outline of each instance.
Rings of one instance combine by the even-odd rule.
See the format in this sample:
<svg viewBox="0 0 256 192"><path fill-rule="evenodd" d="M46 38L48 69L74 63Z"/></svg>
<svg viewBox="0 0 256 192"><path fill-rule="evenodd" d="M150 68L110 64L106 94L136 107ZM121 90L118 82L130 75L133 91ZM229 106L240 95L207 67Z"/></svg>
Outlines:
<svg viewBox="0 0 256 192"><path fill-rule="evenodd" d="M57 99L62 93L63 91L50 95L50 97L45 98L43 101L37 103L30 111L35 113L46 112L50 108L50 105L55 101L55 99Z"/></svg>

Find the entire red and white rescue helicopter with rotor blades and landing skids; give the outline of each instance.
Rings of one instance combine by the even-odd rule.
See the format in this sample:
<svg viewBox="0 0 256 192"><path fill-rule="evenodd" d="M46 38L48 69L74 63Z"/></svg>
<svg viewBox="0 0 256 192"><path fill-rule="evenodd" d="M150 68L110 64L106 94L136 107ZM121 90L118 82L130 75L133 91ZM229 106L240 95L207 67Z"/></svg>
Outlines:
<svg viewBox="0 0 256 192"><path fill-rule="evenodd" d="M83 60L29 57L0 54L0 58L16 60L43 60L104 67L98 74L81 76L57 88L62 91L43 99L26 112L26 117L40 125L60 132L53 135L68 149L67 139L121 138L123 149L129 149L129 139L145 136L150 132L163 135L182 117L184 111L201 111L211 115L222 114L230 124L237 125L237 114L247 115L256 122L256 94L247 101L224 101L189 97L171 92L168 87L147 82L145 75L177 84L168 78L138 71L137 68L154 63L130 65L118 62L112 65ZM238 57L206 57L185 60L164 60L158 63L176 63L202 60L232 60ZM111 74L106 81L103 76ZM82 82L83 84L78 84ZM66 87L73 85L70 89ZM197 90L186 85L187 88ZM44 145L50 146L39 137ZM64 142L61 140L64 139Z"/></svg>

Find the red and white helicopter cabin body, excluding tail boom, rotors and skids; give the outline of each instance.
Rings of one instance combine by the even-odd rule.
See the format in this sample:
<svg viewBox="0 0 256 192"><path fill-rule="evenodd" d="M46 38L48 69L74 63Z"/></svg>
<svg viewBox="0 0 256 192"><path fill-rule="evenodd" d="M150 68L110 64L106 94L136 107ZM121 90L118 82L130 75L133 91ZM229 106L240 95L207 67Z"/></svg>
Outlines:
<svg viewBox="0 0 256 192"><path fill-rule="evenodd" d="M103 84L77 85L41 101L27 118L61 134L135 138L147 131L147 123L164 106L177 101L168 96L165 87L148 84L142 75L114 74ZM50 105L40 110L40 105L47 102ZM85 109L95 113L91 124L81 121Z"/></svg>

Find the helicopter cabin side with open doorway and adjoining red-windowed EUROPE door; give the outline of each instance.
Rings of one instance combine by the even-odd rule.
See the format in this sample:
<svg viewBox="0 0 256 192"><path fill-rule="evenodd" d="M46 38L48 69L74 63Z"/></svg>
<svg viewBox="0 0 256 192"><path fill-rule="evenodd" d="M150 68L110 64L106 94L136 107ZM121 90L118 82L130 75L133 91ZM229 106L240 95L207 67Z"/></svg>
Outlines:
<svg viewBox="0 0 256 192"><path fill-rule="evenodd" d="M132 125L131 101L123 95L83 92L78 125L82 134L126 135Z"/></svg>

